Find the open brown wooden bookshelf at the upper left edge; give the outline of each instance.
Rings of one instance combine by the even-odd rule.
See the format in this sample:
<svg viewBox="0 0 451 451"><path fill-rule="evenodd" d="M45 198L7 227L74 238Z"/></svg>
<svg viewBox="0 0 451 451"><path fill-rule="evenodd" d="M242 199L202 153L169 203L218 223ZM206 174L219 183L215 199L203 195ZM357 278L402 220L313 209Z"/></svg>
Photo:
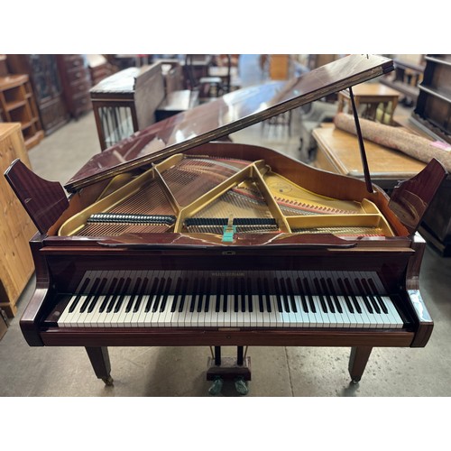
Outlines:
<svg viewBox="0 0 451 451"><path fill-rule="evenodd" d="M0 77L0 117L4 122L20 122L27 149L44 137L28 75Z"/></svg>

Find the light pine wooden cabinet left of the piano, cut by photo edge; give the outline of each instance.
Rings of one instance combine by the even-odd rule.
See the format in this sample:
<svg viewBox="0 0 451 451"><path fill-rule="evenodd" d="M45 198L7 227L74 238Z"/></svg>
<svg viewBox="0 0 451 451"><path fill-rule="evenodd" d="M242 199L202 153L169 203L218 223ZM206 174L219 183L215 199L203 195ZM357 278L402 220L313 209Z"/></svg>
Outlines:
<svg viewBox="0 0 451 451"><path fill-rule="evenodd" d="M16 158L30 166L21 124L0 123L0 172L3 174ZM14 317L17 299L34 272L29 241L36 227L3 176L0 208L0 308L8 317Z"/></svg>

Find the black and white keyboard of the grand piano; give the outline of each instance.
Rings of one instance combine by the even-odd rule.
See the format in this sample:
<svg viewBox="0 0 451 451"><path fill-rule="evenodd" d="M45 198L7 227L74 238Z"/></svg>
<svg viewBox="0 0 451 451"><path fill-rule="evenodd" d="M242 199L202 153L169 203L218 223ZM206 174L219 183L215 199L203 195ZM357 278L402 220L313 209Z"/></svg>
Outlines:
<svg viewBox="0 0 451 451"><path fill-rule="evenodd" d="M403 327L382 292L369 272L87 272L58 326Z"/></svg>

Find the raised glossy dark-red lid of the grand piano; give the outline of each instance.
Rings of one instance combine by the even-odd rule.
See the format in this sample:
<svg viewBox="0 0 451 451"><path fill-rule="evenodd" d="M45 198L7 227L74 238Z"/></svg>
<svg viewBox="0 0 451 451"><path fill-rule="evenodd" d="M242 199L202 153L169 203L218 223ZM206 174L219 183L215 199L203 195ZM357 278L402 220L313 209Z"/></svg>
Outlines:
<svg viewBox="0 0 451 451"><path fill-rule="evenodd" d="M98 180L215 141L392 69L393 63L387 58L350 55L298 78L239 89L133 133L87 161L65 188L76 191Z"/></svg>

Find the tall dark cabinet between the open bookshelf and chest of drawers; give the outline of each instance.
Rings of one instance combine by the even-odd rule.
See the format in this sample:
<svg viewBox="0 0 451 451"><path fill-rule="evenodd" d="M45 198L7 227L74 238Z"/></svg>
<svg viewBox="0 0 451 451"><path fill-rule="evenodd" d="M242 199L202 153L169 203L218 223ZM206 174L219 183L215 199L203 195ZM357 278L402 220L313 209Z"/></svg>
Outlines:
<svg viewBox="0 0 451 451"><path fill-rule="evenodd" d="M50 134L69 120L56 55L7 55L12 74L30 76L42 128Z"/></svg>

